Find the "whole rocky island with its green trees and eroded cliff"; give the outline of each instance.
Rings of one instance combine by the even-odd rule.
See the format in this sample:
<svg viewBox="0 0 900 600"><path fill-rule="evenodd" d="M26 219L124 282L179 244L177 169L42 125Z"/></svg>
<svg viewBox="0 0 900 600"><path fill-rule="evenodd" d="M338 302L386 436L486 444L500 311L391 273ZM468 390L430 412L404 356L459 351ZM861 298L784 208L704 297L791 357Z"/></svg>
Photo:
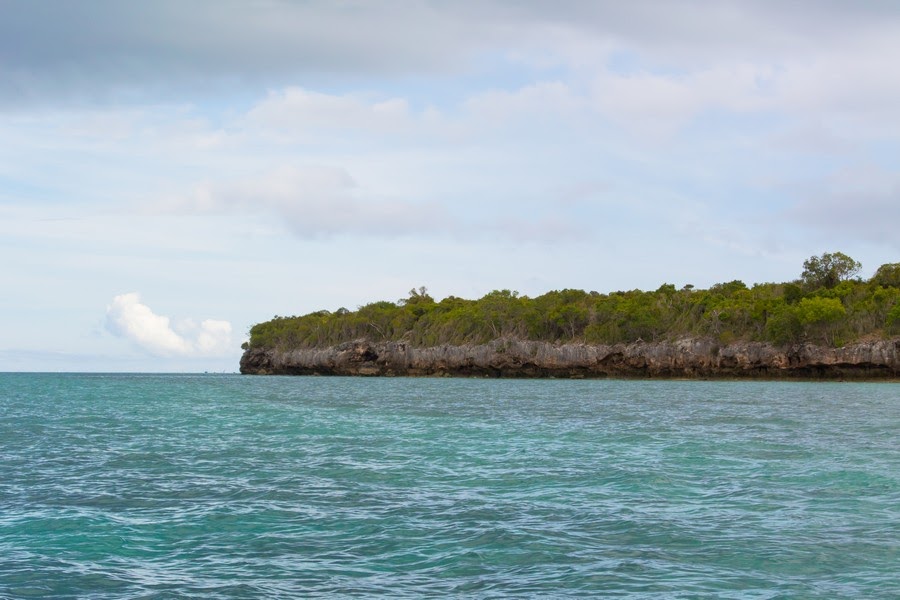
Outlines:
<svg viewBox="0 0 900 600"><path fill-rule="evenodd" d="M900 263L869 279L840 252L801 277L709 289L495 290L436 301L424 287L355 311L254 325L241 373L557 378L900 379Z"/></svg>

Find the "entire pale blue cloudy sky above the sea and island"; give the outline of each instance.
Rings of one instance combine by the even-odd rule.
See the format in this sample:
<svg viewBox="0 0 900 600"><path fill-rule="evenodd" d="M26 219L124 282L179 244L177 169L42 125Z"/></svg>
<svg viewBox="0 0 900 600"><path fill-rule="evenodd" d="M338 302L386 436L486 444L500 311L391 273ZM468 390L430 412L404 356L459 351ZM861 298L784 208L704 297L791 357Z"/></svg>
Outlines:
<svg viewBox="0 0 900 600"><path fill-rule="evenodd" d="M900 261L892 0L0 0L0 370Z"/></svg>

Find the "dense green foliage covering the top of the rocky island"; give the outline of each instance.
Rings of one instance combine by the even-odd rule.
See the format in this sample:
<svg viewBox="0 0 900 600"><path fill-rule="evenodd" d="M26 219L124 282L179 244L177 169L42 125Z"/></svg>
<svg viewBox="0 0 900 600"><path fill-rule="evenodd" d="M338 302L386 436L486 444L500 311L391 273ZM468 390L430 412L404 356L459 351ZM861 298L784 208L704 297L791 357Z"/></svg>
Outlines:
<svg viewBox="0 0 900 600"><path fill-rule="evenodd" d="M276 316L253 326L244 347L309 348L359 338L417 346L478 344L502 337L595 344L686 336L789 344L842 345L900 334L900 263L864 281L860 264L841 254L804 263L800 279L708 290L664 284L656 291L599 294L547 292L536 298L495 290L478 300L435 301L425 288L397 302L373 302L300 317Z"/></svg>

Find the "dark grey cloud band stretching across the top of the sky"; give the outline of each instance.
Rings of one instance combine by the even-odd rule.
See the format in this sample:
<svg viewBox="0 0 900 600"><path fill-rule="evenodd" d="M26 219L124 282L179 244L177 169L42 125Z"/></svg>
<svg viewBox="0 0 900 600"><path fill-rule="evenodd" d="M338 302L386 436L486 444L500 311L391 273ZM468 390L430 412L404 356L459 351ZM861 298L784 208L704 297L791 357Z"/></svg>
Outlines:
<svg viewBox="0 0 900 600"><path fill-rule="evenodd" d="M798 74L802 89L791 95L813 98L822 81L826 96L855 93L845 77L857 72L896 82L900 25L894 3L814 0L81 0L50 7L7 0L3 13L0 100L7 102L134 101L247 84L456 75L498 56L590 70L622 52L676 71L753 62L790 73L812 65L814 81ZM864 85L858 95L895 87Z"/></svg>

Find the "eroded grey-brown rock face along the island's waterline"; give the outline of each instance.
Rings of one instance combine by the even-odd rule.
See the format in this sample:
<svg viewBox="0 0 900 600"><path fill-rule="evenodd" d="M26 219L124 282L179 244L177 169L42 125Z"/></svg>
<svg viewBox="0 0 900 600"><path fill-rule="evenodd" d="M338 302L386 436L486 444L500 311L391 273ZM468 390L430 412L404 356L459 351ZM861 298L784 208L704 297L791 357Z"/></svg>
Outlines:
<svg viewBox="0 0 900 600"><path fill-rule="evenodd" d="M707 339L589 345L500 339L414 348L356 340L328 348L247 350L241 373L477 377L897 379L900 339L843 348Z"/></svg>

